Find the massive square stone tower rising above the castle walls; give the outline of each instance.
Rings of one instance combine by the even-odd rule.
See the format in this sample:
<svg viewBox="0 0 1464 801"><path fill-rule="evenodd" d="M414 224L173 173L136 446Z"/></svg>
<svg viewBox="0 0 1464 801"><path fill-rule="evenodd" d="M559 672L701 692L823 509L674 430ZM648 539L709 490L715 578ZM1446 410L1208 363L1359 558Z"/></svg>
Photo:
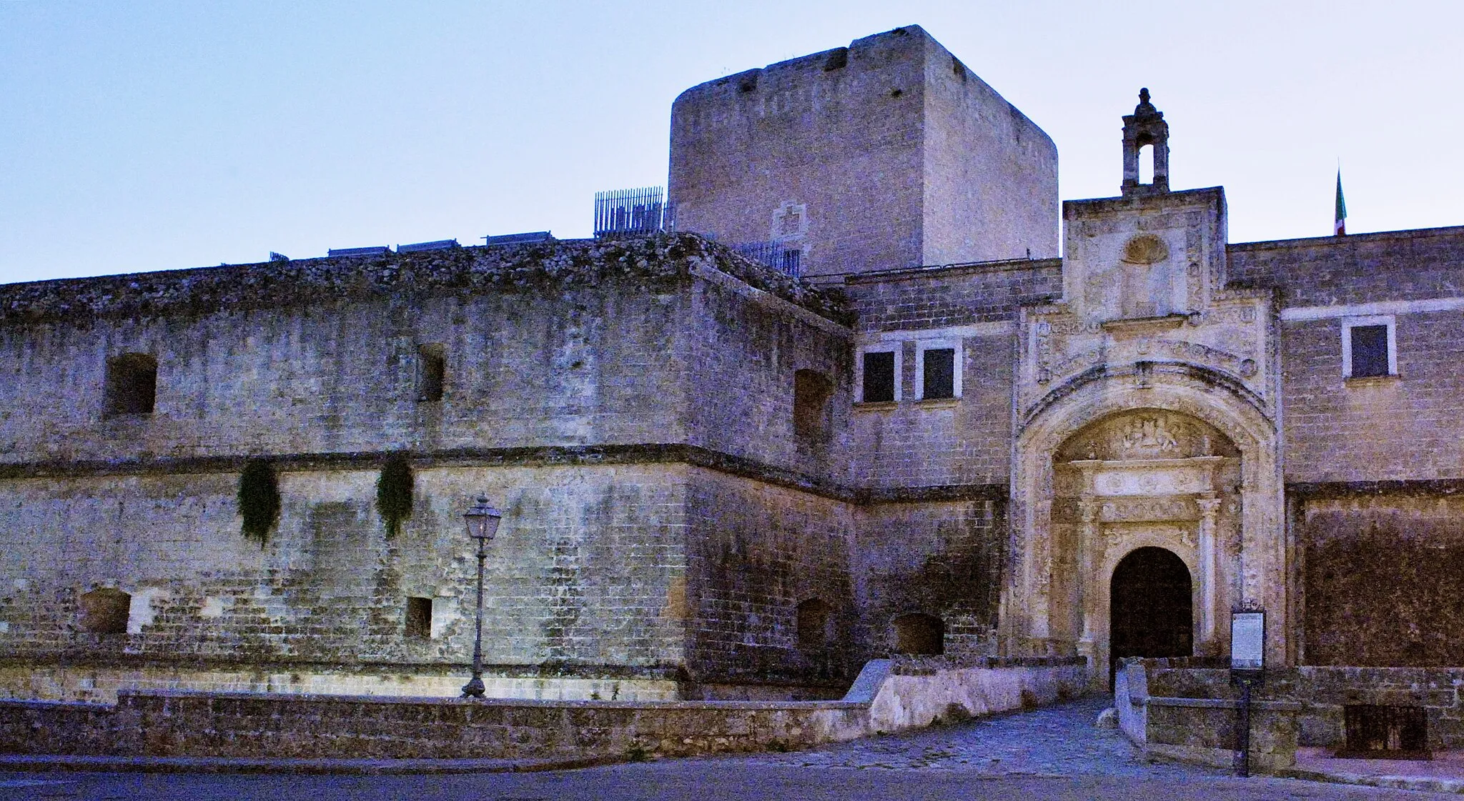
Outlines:
<svg viewBox="0 0 1464 801"><path fill-rule="evenodd" d="M1057 148L918 26L692 86L676 227L804 275L1057 255Z"/></svg>

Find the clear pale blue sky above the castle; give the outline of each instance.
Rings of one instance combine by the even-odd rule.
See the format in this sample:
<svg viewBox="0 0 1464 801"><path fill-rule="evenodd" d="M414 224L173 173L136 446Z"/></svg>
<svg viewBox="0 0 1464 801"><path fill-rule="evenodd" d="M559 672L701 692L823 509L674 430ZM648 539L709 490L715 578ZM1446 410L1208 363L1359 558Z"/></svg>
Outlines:
<svg viewBox="0 0 1464 801"><path fill-rule="evenodd" d="M0 283L552 230L671 101L918 23L1118 187L1139 86L1231 242L1464 224L1464 3L0 0Z"/></svg>

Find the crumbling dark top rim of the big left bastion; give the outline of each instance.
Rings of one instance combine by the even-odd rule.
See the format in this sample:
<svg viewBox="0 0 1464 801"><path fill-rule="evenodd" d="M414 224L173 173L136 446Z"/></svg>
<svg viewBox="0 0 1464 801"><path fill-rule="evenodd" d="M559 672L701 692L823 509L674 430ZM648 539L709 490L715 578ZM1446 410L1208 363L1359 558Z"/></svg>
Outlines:
<svg viewBox="0 0 1464 801"><path fill-rule="evenodd" d="M0 327L97 318L208 315L386 296L542 291L630 278L671 286L697 267L801 306L855 321L842 290L814 288L691 233L552 240L376 256L328 256L0 286Z"/></svg>

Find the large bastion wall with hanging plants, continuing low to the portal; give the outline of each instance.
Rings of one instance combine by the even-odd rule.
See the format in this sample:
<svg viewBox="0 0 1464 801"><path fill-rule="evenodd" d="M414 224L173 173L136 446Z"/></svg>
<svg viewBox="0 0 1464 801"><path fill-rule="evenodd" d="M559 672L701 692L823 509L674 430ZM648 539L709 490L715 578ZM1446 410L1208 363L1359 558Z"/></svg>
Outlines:
<svg viewBox="0 0 1464 801"><path fill-rule="evenodd" d="M985 653L1000 502L854 483L840 303L692 236L7 287L0 690L451 694L479 492L505 513L493 694L836 696L909 612ZM107 409L127 353L157 365L151 413ZM827 378L808 431L798 370ZM395 536L392 454L416 480ZM283 498L262 546L240 533L249 458ZM97 631L108 595L124 625ZM808 602L820 637L798 634Z"/></svg>

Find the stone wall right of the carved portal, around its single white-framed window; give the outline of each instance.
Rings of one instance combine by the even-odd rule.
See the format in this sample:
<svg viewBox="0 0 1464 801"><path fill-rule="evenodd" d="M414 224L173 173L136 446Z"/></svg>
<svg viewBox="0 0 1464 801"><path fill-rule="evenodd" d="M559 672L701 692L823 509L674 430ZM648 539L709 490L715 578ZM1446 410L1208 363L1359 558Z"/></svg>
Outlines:
<svg viewBox="0 0 1464 801"><path fill-rule="evenodd" d="M1464 228L1256 242L1274 288L1304 665L1464 663ZM1353 324L1392 375L1345 378Z"/></svg>

